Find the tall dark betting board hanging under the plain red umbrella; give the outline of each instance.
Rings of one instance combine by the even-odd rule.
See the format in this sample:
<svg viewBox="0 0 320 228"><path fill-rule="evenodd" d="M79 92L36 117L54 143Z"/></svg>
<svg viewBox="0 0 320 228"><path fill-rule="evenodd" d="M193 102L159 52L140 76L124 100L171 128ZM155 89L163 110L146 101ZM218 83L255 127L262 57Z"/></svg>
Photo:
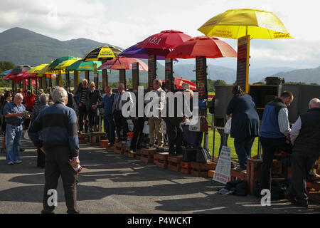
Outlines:
<svg viewBox="0 0 320 228"><path fill-rule="evenodd" d="M196 57L196 81L199 99L208 99L206 57Z"/></svg>

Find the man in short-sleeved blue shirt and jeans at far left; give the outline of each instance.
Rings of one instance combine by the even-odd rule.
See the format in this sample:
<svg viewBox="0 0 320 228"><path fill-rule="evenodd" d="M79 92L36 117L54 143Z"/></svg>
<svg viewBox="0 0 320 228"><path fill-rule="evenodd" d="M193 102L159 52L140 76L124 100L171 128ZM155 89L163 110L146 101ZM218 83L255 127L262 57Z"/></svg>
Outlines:
<svg viewBox="0 0 320 228"><path fill-rule="evenodd" d="M22 136L23 119L29 119L30 115L21 104L23 96L17 93L14 100L4 105L4 117L6 120L6 163L8 165L21 164L20 142Z"/></svg>

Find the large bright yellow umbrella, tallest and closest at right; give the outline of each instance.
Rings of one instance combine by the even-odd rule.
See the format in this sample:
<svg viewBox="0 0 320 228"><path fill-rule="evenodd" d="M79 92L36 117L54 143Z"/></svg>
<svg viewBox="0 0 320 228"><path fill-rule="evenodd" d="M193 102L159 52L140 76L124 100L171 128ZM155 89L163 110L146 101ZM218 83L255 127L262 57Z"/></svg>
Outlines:
<svg viewBox="0 0 320 228"><path fill-rule="evenodd" d="M206 36L238 39L250 38L292 38L282 22L269 11L259 9L230 9L198 28Z"/></svg>

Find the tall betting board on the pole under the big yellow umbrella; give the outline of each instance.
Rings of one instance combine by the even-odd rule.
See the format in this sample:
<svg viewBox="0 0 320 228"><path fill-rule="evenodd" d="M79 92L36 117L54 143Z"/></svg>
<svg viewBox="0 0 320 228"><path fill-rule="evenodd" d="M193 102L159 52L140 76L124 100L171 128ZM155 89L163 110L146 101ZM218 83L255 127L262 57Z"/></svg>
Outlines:
<svg viewBox="0 0 320 228"><path fill-rule="evenodd" d="M238 38L237 85L244 92L249 90L249 50L250 36Z"/></svg>

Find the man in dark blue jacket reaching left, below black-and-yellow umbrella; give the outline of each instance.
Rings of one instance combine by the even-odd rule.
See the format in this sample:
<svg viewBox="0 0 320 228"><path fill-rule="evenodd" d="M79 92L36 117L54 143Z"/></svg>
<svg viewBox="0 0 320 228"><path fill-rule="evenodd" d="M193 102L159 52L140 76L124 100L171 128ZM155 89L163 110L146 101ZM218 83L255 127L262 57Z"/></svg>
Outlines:
<svg viewBox="0 0 320 228"><path fill-rule="evenodd" d="M110 86L105 87L105 97L102 98L101 105L92 105L92 108L104 108L104 123L105 132L107 133L107 138L109 140L110 147L114 145L114 120L113 120L113 103L114 103L114 93Z"/></svg>

